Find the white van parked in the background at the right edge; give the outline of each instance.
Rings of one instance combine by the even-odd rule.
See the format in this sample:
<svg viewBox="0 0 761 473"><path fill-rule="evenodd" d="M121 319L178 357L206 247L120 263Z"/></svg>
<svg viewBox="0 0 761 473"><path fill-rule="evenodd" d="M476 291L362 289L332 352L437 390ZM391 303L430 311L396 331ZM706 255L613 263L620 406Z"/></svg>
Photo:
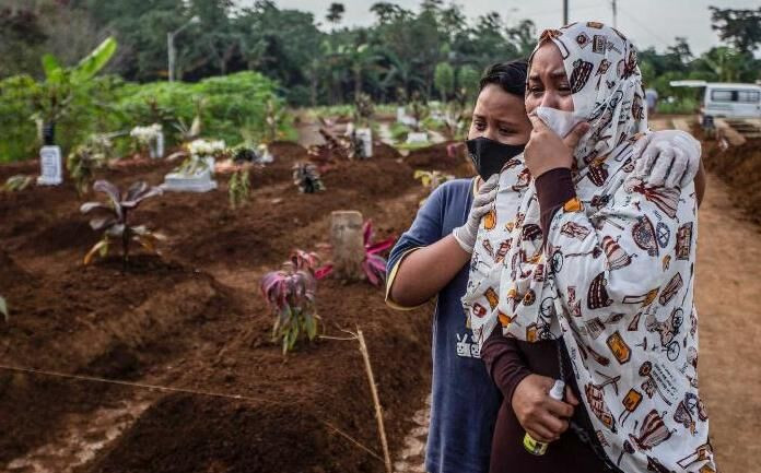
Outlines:
<svg viewBox="0 0 761 473"><path fill-rule="evenodd" d="M761 118L761 85L672 81L671 86L705 87L700 114L713 118Z"/></svg>

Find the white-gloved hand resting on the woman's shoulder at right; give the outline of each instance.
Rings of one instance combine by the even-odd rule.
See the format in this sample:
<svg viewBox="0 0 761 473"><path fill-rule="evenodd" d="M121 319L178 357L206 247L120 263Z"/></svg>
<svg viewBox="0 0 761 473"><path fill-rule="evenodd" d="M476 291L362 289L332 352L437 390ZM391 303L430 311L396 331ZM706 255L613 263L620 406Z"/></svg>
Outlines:
<svg viewBox="0 0 761 473"><path fill-rule="evenodd" d="M651 131L634 143L634 175L649 186L682 188L700 168L700 141L680 130Z"/></svg>

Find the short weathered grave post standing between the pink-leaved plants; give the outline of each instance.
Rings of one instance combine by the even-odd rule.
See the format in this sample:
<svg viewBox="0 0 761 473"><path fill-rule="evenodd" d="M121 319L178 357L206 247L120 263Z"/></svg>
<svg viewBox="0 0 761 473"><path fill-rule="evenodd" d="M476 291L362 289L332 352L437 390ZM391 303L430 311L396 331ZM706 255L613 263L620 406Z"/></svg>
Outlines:
<svg viewBox="0 0 761 473"><path fill-rule="evenodd" d="M362 214L354 210L331 212L330 244L336 277L347 281L362 280L362 261L365 256Z"/></svg>

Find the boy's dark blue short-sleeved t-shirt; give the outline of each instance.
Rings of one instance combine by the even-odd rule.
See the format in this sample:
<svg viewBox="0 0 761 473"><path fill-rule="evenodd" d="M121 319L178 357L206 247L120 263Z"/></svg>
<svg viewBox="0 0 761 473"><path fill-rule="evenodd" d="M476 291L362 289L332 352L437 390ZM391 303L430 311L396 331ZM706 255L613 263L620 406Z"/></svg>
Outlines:
<svg viewBox="0 0 761 473"><path fill-rule="evenodd" d="M472 179L443 184L428 198L388 259L388 286L409 251L432 245L465 224L472 202ZM433 318L433 387L425 469L429 473L487 473L500 391L480 359L466 327L460 298L466 264L440 293ZM396 306L393 301L389 305Z"/></svg>

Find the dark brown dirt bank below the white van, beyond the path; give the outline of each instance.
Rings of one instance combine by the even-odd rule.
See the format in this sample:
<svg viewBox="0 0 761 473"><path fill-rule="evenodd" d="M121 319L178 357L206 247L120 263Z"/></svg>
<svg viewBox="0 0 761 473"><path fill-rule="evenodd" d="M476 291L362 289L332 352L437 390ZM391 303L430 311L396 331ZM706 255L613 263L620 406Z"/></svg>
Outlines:
<svg viewBox="0 0 761 473"><path fill-rule="evenodd" d="M702 134L702 132L699 132ZM733 190L733 199L761 224L761 140L722 150L716 141L703 141L705 167L719 175Z"/></svg>

